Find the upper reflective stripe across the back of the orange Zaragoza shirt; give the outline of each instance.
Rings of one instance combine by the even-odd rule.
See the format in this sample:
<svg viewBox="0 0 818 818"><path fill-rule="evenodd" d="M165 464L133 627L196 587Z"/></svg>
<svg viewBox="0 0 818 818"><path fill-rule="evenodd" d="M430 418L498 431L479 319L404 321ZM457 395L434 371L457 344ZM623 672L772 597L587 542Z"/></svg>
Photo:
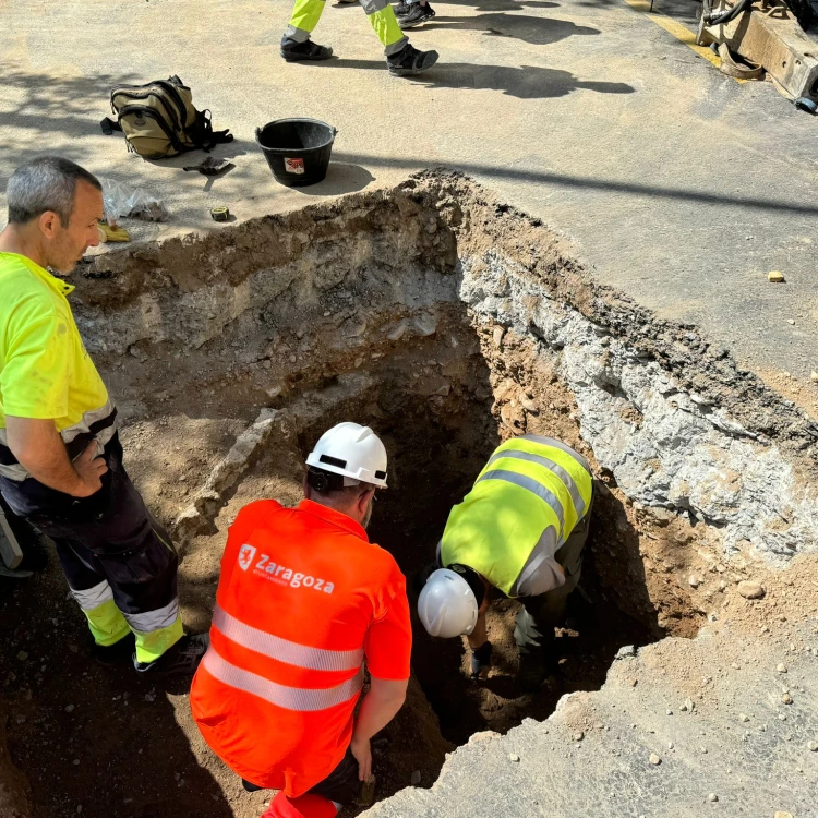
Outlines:
<svg viewBox="0 0 818 818"><path fill-rule="evenodd" d="M218 605L213 612L213 624L228 639L241 645L242 648L249 648L256 653L263 653L265 657L296 667L311 671L352 671L360 667L363 662L363 648L326 650L291 642L289 639L281 639L245 625Z"/></svg>

